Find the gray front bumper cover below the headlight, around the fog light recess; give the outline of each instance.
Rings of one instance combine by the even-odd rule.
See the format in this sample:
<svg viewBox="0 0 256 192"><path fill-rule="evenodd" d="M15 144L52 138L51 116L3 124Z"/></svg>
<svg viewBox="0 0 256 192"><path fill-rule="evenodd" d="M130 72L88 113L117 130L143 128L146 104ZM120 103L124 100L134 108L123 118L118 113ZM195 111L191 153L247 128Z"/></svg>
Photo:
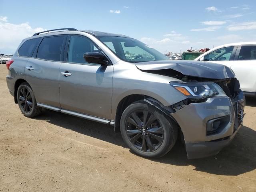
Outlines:
<svg viewBox="0 0 256 192"><path fill-rule="evenodd" d="M179 123L186 142L203 142L232 135L234 114L234 108L229 97L212 97L206 102L191 103L171 115ZM230 122L219 134L206 136L206 123L222 116L230 116Z"/></svg>

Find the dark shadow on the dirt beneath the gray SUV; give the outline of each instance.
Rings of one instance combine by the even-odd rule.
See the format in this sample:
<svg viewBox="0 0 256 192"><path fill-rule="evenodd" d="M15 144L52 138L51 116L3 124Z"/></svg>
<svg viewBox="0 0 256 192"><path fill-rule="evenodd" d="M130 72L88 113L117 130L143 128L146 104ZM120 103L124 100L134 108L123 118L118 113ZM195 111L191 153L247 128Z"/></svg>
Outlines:
<svg viewBox="0 0 256 192"><path fill-rule="evenodd" d="M60 126L126 148L113 126L45 110L38 120ZM184 145L179 140L165 156L152 161L177 166L194 166L194 170L217 175L240 175L256 168L256 131L243 126L232 143L216 156L188 160Z"/></svg>

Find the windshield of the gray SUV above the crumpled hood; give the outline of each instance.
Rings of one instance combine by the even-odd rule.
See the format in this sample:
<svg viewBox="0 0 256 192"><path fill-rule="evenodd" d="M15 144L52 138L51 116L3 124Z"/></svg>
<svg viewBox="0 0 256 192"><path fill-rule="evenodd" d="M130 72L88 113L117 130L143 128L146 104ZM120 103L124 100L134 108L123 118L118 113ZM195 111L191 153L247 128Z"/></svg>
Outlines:
<svg viewBox="0 0 256 192"><path fill-rule="evenodd" d="M127 62L170 60L164 54L132 38L97 36L120 59Z"/></svg>

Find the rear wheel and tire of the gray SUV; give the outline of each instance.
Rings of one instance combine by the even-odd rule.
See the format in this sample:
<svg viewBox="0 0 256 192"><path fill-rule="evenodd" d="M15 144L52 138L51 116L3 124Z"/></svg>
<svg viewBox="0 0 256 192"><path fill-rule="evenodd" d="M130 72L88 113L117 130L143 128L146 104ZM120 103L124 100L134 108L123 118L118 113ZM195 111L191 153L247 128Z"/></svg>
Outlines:
<svg viewBox="0 0 256 192"><path fill-rule="evenodd" d="M35 117L41 114L42 108L36 105L34 92L28 83L20 84L17 91L17 100L21 112L26 117Z"/></svg>

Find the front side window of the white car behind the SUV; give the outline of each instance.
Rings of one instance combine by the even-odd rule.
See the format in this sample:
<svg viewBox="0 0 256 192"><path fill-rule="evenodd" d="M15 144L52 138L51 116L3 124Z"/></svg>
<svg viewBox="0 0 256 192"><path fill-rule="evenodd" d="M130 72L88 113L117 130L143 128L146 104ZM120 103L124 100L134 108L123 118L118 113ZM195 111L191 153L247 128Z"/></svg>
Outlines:
<svg viewBox="0 0 256 192"><path fill-rule="evenodd" d="M219 48L204 56L204 61L229 61L233 49L234 46Z"/></svg>

